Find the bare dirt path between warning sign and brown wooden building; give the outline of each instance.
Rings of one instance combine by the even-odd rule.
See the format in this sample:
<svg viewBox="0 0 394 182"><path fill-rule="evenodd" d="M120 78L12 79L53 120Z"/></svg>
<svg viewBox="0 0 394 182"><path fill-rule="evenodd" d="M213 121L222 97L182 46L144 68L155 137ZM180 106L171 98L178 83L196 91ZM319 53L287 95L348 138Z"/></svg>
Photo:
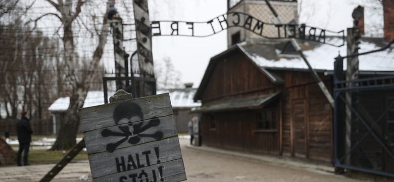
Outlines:
<svg viewBox="0 0 394 182"><path fill-rule="evenodd" d="M188 140L181 139L187 181L360 181L324 171L308 171L282 164L257 162L252 159L229 156L187 148Z"/></svg>

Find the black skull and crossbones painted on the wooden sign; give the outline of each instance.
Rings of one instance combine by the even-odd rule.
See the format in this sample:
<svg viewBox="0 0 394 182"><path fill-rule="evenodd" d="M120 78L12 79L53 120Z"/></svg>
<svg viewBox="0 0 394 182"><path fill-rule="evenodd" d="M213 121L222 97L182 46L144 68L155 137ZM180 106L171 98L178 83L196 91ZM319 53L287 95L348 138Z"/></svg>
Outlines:
<svg viewBox="0 0 394 182"><path fill-rule="evenodd" d="M110 143L107 145L107 151L114 152L115 149L127 141L130 144L138 144L141 140L141 137L151 137L156 140L161 140L163 138L163 132L156 131L155 133L142 133L146 129L149 129L154 126L158 126L160 124L160 119L152 118L147 124L144 125L146 122L139 122L138 124L131 123L132 117L138 117L140 119L143 118L143 114L141 108L133 103L133 102L123 102L119 104L113 113L113 118L116 125L121 124L118 126L121 132L112 131L108 128L103 129L101 135L103 137L109 136L121 136L123 139L116 143ZM128 123L128 124L127 124Z"/></svg>

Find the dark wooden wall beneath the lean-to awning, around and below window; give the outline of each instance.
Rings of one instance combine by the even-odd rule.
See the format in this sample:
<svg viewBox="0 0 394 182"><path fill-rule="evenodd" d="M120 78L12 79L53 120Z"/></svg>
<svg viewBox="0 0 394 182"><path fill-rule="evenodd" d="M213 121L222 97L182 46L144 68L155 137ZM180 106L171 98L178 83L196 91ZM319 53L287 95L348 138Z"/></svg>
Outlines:
<svg viewBox="0 0 394 182"><path fill-rule="evenodd" d="M211 129L211 114L201 118L203 145L223 149L279 155L279 129L270 132L255 132L255 111L233 111L212 113L216 129Z"/></svg>

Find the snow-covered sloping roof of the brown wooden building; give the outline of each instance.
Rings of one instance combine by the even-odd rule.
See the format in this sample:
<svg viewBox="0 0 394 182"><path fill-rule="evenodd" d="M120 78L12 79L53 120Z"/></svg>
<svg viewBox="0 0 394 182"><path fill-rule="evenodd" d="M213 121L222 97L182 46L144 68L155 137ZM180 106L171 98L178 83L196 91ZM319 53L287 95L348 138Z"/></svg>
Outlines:
<svg viewBox="0 0 394 182"><path fill-rule="evenodd" d="M337 38L339 40L339 38ZM298 41L303 48L303 53L315 70L332 71L334 58L339 54L347 55L347 46L335 47L333 45L311 41ZM376 42L361 39L359 53L381 49ZM258 66L269 69L308 69L307 64L300 55L281 54L282 50L273 45L241 43L237 45ZM259 49L260 48L260 49ZM264 50L264 51L262 51ZM269 53L268 53L269 52ZM378 56L377 56L378 55ZM346 60L343 68L346 69ZM394 71L394 49L386 49L379 53L359 56L360 71Z"/></svg>

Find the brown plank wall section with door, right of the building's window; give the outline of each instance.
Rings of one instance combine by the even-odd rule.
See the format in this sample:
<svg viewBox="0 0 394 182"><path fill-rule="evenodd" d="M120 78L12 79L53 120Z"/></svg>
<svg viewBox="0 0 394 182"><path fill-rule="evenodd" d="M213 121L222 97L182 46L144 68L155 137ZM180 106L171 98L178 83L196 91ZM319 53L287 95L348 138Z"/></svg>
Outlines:
<svg viewBox="0 0 394 182"><path fill-rule="evenodd" d="M319 75L330 92L329 77ZM332 161L332 108L310 72L287 72L283 100L283 155Z"/></svg>

